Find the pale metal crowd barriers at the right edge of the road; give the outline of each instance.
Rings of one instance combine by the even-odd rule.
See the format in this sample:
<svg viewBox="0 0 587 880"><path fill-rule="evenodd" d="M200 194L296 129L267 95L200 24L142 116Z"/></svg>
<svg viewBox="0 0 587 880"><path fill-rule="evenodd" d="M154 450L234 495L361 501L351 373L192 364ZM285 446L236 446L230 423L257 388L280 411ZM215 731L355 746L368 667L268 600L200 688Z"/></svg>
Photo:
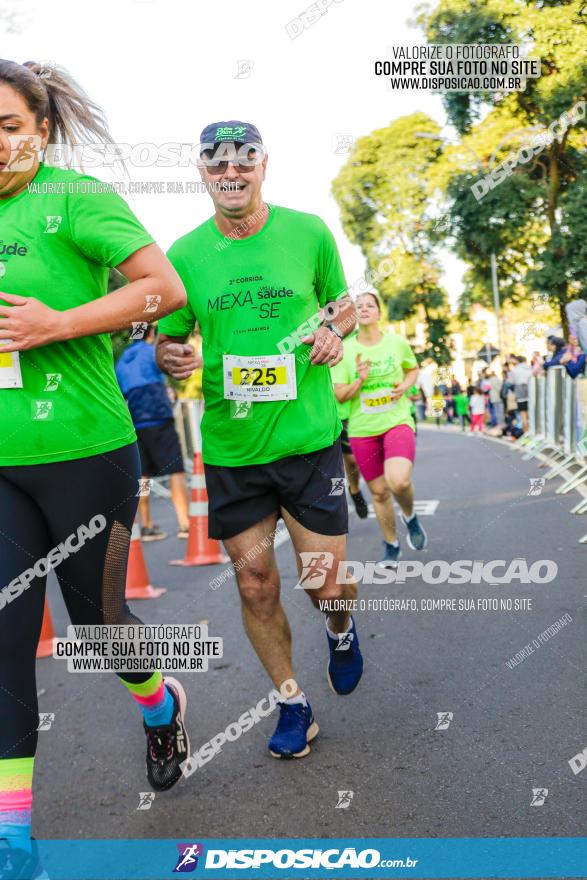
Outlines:
<svg viewBox="0 0 587 880"><path fill-rule="evenodd" d="M566 495L587 482L587 377L572 379L564 367L551 367L545 376L528 382L528 431L516 444L524 459L542 456L550 465L546 479L563 476L557 495ZM571 513L587 512L587 497ZM587 543L587 535L580 539Z"/></svg>

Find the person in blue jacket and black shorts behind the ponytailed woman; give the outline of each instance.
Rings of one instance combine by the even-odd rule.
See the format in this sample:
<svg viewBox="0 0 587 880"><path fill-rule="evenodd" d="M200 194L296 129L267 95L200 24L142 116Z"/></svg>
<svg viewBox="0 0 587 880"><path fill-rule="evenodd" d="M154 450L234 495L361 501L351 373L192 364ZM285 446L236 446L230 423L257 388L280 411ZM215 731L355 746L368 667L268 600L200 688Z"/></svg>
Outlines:
<svg viewBox="0 0 587 880"><path fill-rule="evenodd" d="M170 474L171 500L179 523L178 538L188 536L188 500L183 456L173 421L173 409L163 373L155 363L155 329L131 342L116 363L116 378L133 420L141 454L143 477ZM139 498L141 539L159 541L165 532L151 519L149 496Z"/></svg>

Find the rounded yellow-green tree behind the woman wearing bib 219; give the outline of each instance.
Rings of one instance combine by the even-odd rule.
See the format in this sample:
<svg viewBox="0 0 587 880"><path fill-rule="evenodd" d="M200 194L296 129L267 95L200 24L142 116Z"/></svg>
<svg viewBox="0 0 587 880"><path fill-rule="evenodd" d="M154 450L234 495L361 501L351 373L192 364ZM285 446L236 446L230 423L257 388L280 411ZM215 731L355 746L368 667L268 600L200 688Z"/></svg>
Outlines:
<svg viewBox="0 0 587 880"><path fill-rule="evenodd" d="M346 234L375 273L390 320L422 316L427 327L422 354L448 363L448 301L428 216L434 194L430 171L442 154L439 136L438 125L424 113L365 135L332 190ZM389 261L393 270L379 272Z"/></svg>

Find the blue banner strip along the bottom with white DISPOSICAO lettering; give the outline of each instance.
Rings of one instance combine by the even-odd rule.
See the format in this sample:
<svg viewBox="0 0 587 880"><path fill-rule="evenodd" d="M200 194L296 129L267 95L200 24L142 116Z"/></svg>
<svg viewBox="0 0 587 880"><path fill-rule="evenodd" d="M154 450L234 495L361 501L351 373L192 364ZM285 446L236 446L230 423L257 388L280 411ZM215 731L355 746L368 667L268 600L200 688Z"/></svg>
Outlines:
<svg viewBox="0 0 587 880"><path fill-rule="evenodd" d="M166 880L188 874L218 880L587 878L587 837L184 838L36 843L38 867L42 866L49 880Z"/></svg>

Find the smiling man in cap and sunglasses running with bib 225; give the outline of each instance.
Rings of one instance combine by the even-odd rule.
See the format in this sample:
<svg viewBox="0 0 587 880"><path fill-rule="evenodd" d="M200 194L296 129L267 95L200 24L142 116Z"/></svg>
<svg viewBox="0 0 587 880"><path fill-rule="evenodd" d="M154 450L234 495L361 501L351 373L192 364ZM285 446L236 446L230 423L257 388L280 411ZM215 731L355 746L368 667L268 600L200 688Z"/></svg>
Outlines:
<svg viewBox="0 0 587 880"><path fill-rule="evenodd" d="M235 563L243 621L259 659L278 688L291 684L291 633L273 548L282 516L298 586L328 615L329 683L348 694L363 661L349 615L356 585L337 583L348 508L329 366L342 357L354 306L323 221L263 201L267 156L256 127L208 125L199 149L215 213L168 253L188 303L160 322L158 363L177 379L191 374L198 359L186 340L197 322L209 535L223 540ZM294 684L269 742L278 758L308 754L318 732Z"/></svg>

